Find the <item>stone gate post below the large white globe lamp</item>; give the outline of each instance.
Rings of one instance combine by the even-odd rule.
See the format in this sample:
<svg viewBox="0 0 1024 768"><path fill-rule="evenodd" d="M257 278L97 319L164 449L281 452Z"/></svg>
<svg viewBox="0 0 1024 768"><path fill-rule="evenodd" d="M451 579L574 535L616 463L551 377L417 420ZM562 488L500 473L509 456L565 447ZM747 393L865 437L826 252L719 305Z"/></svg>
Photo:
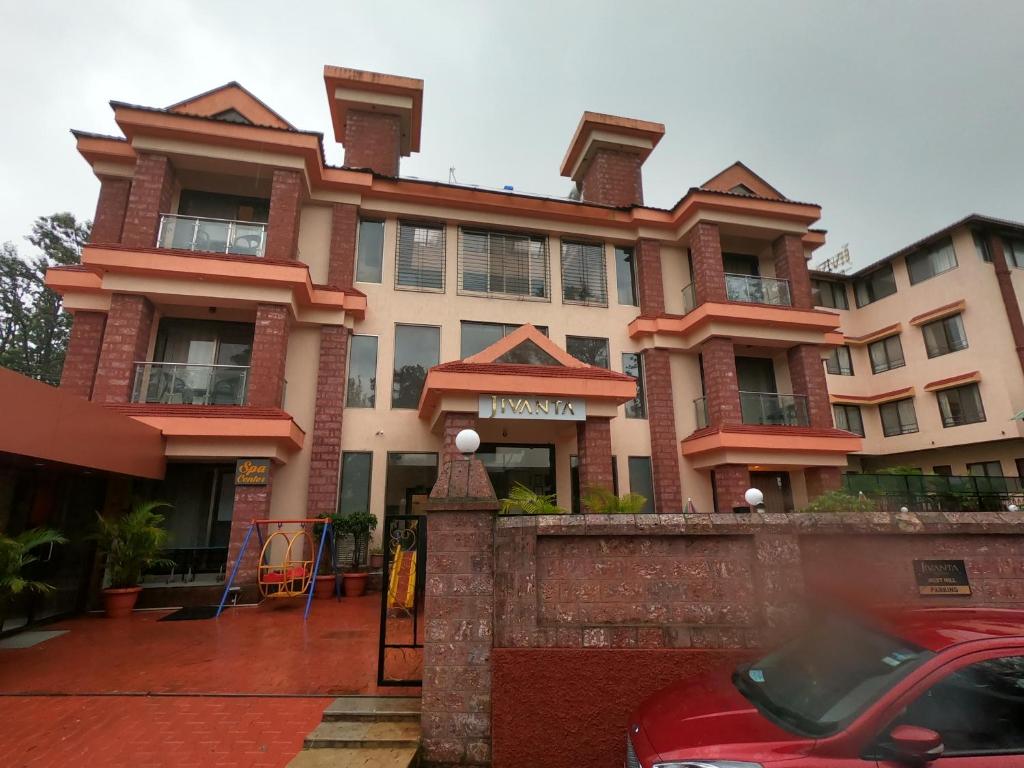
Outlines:
<svg viewBox="0 0 1024 768"><path fill-rule="evenodd" d="M479 459L445 462L427 503L423 758L490 764L498 499Z"/></svg>

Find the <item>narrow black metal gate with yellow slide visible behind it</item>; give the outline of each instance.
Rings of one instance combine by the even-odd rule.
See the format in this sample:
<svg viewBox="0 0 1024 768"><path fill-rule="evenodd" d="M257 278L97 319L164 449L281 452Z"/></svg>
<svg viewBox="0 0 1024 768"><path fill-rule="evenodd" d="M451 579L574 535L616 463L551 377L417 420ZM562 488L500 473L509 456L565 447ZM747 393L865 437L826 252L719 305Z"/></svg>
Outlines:
<svg viewBox="0 0 1024 768"><path fill-rule="evenodd" d="M427 571L427 518L384 517L378 685L423 682L423 582Z"/></svg>

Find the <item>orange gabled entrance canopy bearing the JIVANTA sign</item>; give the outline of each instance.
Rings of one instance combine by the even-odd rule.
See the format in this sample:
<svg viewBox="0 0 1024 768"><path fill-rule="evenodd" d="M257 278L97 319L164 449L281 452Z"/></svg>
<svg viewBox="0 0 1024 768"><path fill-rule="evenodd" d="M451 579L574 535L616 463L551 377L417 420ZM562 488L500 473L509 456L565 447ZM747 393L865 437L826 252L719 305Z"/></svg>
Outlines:
<svg viewBox="0 0 1024 768"><path fill-rule="evenodd" d="M474 355L430 369L420 418L434 428L445 413L508 420L610 418L636 393L632 376L589 366L527 324Z"/></svg>

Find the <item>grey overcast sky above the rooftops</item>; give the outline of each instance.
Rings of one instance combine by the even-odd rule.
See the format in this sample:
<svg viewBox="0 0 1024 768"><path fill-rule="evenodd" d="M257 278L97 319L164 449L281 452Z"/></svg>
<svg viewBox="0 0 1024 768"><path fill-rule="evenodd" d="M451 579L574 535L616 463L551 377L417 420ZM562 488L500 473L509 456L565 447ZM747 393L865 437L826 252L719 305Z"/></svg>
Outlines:
<svg viewBox="0 0 1024 768"><path fill-rule="evenodd" d="M0 18L0 241L91 218L98 182L68 131L118 133L111 99L238 80L341 163L325 63L425 81L402 175L564 196L593 110L666 124L647 204L741 160L822 206L819 258L849 243L863 265L971 212L1024 220L1020 0L36 0Z"/></svg>

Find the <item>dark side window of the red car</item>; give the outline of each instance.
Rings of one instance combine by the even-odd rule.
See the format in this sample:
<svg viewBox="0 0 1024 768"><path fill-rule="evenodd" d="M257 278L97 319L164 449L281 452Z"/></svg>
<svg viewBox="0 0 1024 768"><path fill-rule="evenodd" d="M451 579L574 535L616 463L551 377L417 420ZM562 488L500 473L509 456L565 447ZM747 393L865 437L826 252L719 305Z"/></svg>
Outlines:
<svg viewBox="0 0 1024 768"><path fill-rule="evenodd" d="M1024 754L1024 656L964 667L913 701L890 726L942 736L944 757Z"/></svg>

